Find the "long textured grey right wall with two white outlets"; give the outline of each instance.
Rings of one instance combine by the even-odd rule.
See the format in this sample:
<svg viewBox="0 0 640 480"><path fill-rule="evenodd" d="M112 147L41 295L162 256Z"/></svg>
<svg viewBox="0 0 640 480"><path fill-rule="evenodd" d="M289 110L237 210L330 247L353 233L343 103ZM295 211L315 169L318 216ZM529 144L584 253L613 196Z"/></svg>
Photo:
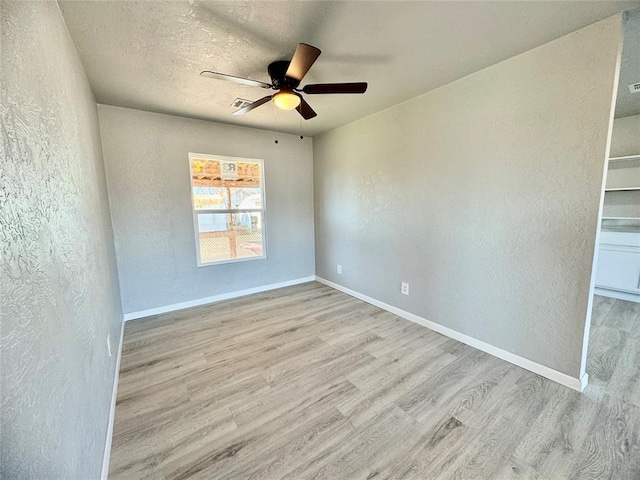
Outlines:
<svg viewBox="0 0 640 480"><path fill-rule="evenodd" d="M616 16L315 137L317 274L578 378L620 41Z"/></svg>

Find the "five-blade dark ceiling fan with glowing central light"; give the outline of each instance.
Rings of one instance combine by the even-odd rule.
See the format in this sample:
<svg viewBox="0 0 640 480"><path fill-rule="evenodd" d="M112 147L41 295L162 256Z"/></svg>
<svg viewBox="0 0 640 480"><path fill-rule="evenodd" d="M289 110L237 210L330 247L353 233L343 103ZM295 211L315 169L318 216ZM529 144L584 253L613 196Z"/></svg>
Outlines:
<svg viewBox="0 0 640 480"><path fill-rule="evenodd" d="M305 85L298 88L302 78L311 68L311 65L320 56L320 49L307 45L306 43L298 44L291 61L278 60L273 62L267 68L271 83L259 82L249 78L236 77L225 73L211 72L205 70L200 72L203 77L215 78L218 80L228 80L242 85L251 87L262 87L271 90L277 90L273 95L256 100L239 110L233 112L233 115L244 115L254 108L264 105L273 100L277 107L283 110L293 110L294 108L302 115L305 120L309 120L317 115L311 106L302 98L300 92L307 95L327 94L327 93L364 93L367 91L366 82L356 83L318 83L314 85Z"/></svg>

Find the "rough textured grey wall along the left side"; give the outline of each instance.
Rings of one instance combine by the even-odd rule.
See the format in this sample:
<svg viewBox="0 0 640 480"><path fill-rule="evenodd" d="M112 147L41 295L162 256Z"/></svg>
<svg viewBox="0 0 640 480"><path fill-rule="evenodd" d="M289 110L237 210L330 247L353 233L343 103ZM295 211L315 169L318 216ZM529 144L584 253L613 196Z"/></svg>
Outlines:
<svg viewBox="0 0 640 480"><path fill-rule="evenodd" d="M96 104L55 2L0 23L0 477L99 478L122 312Z"/></svg>

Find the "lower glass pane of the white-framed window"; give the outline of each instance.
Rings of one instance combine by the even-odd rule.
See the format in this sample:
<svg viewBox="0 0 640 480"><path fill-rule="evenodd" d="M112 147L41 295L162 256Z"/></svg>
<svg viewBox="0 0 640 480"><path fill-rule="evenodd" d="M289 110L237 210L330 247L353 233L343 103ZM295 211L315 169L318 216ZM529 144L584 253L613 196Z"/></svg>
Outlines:
<svg viewBox="0 0 640 480"><path fill-rule="evenodd" d="M198 240L201 263L261 257L262 213L200 213Z"/></svg>

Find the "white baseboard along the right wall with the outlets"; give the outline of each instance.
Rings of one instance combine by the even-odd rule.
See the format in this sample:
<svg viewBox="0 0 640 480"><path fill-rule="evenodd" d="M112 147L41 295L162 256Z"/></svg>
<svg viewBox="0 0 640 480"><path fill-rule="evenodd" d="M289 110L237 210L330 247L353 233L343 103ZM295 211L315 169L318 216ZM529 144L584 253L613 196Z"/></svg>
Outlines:
<svg viewBox="0 0 640 480"><path fill-rule="evenodd" d="M330 282L329 280L326 280L322 277L316 277L316 280L331 288L335 288L336 290L344 292L347 295L351 295L352 297L355 297L359 300L370 303L371 305L375 305L376 307L382 308L383 310L386 310L395 315L398 315L399 317L402 317L406 320L417 323L418 325L422 325L423 327L427 327L433 330L434 332L438 332L449 338L453 338L454 340L465 343L470 347L476 348L485 353L493 355L494 357L498 357L509 363L513 363L518 367L522 367L526 370L529 370L530 372L533 372L545 378L548 378L549 380L552 380L556 383L564 385L565 387L569 387L573 390L582 392L587 386L589 376L586 373L583 375L582 378L571 377L566 373L558 372L557 370L546 367L544 365L540 365L539 363L533 362L527 358L521 357L519 355L508 352L506 350L502 350L501 348L494 347L493 345L485 343L481 340L477 340L473 337L469 337L463 333L457 332L456 330L452 330L451 328L445 327L438 323L431 322L425 318L419 317L418 315L414 315L413 313L409 313L400 308L381 302L379 300L376 300L375 298L368 297L359 292L343 287L342 285L339 285L337 283Z"/></svg>

